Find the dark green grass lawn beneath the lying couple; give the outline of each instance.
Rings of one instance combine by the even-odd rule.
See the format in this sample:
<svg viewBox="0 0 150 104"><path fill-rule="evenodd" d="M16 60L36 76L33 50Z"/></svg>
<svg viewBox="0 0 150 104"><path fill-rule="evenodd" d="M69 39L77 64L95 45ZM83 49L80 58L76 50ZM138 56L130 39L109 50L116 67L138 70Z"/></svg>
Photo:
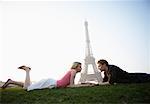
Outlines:
<svg viewBox="0 0 150 104"><path fill-rule="evenodd" d="M150 83L44 89L29 92L18 87L0 89L0 93L0 104L150 103Z"/></svg>

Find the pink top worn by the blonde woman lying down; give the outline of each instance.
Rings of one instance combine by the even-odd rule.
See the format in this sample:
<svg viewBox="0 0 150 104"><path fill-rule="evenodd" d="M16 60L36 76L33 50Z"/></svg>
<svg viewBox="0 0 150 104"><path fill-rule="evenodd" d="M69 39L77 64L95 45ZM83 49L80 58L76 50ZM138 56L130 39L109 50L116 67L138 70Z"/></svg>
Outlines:
<svg viewBox="0 0 150 104"><path fill-rule="evenodd" d="M71 70L69 70L64 77L57 80L57 87L67 87L70 84Z"/></svg>

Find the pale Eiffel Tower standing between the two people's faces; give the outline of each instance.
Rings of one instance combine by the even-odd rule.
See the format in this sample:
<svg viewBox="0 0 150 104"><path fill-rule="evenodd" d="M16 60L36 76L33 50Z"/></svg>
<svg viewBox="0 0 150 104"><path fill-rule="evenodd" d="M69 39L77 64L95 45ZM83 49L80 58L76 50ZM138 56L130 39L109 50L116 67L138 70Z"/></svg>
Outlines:
<svg viewBox="0 0 150 104"><path fill-rule="evenodd" d="M92 49L90 46L90 39L89 39L89 33L88 33L88 22L85 21L84 25L85 25L85 33L86 33L85 34L86 35L86 52L85 52L85 59L84 59L84 68L81 72L81 77L80 77L79 82L86 83L89 81L94 81L97 83L101 83L102 82L101 72L98 71L98 69L96 67L95 58L93 57ZM94 70L93 74L88 73L89 65L92 65L92 68Z"/></svg>

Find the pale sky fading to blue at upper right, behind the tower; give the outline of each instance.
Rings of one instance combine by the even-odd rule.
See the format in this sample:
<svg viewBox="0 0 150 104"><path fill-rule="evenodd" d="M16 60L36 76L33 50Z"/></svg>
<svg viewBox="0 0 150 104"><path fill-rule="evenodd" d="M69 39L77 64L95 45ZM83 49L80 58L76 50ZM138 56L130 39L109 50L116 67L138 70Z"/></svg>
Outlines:
<svg viewBox="0 0 150 104"><path fill-rule="evenodd" d="M31 66L36 81L84 63L85 20L96 61L150 73L148 0L2 1L0 8L0 80L24 80L20 65Z"/></svg>

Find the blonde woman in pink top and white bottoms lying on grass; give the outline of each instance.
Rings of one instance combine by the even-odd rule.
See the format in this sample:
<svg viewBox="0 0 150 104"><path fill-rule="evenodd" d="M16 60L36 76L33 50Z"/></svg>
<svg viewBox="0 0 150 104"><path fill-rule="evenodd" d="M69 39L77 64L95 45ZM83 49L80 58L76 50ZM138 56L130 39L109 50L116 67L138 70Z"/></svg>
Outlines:
<svg viewBox="0 0 150 104"><path fill-rule="evenodd" d="M71 69L62 77L60 80L54 80L51 78L43 79L35 83L30 82L30 67L20 66L18 69L22 69L26 72L25 82L17 82L11 79L8 79L5 84L2 86L2 89L5 89L9 84L14 84L23 87L27 91L34 89L44 89L44 88L64 88L64 87L81 87L81 86L93 86L94 84L74 84L75 76L78 72L82 70L80 62L74 62Z"/></svg>

